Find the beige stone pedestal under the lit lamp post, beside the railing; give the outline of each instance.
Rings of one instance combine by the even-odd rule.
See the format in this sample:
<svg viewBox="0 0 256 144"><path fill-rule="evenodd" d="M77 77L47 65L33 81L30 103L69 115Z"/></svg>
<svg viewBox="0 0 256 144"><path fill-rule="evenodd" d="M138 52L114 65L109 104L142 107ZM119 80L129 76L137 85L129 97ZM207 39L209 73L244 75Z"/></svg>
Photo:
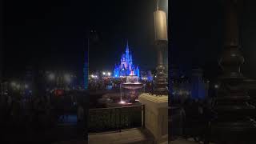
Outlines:
<svg viewBox="0 0 256 144"><path fill-rule="evenodd" d="M145 105L145 127L154 135L155 143L168 142L168 96L144 93L138 99Z"/></svg>

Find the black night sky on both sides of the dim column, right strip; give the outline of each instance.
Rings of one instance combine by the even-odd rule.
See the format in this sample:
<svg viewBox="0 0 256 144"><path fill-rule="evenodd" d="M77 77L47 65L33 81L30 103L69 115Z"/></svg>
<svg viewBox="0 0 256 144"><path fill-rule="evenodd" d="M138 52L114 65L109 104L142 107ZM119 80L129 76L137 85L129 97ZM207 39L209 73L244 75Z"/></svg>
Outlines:
<svg viewBox="0 0 256 144"><path fill-rule="evenodd" d="M256 78L255 8L254 0L244 0L240 27L242 72L250 78ZM170 1L170 31L170 63L184 70L201 67L207 78L218 76L225 32L222 0Z"/></svg>

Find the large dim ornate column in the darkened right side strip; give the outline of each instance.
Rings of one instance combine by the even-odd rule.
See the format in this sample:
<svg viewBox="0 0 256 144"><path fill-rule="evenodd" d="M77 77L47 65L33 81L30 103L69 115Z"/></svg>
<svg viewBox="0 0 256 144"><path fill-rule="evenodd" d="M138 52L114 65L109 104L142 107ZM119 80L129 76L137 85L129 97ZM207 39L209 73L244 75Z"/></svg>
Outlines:
<svg viewBox="0 0 256 144"><path fill-rule="evenodd" d="M214 111L217 118L212 122L211 134L217 143L254 143L255 122L250 118L255 108L249 104L245 80L240 66L244 58L238 38L239 0L225 0L226 37L219 65L223 74L219 77L217 105Z"/></svg>

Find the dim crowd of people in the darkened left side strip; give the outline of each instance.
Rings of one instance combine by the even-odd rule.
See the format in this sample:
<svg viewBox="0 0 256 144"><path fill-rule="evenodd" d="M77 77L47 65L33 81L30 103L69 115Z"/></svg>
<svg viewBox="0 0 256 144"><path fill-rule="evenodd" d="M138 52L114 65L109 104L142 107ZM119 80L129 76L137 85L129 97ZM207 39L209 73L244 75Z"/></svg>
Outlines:
<svg viewBox="0 0 256 144"><path fill-rule="evenodd" d="M34 134L40 135L52 130L57 126L61 116L70 113L70 107L74 104L74 97L70 95L61 97L56 97L54 94L41 97L34 95L26 97L18 93L1 95L0 130L1 134L4 134L2 140L20 142L22 138L27 140L33 138ZM74 114L77 114L77 111L74 111ZM80 117L81 112L79 121L81 121Z"/></svg>

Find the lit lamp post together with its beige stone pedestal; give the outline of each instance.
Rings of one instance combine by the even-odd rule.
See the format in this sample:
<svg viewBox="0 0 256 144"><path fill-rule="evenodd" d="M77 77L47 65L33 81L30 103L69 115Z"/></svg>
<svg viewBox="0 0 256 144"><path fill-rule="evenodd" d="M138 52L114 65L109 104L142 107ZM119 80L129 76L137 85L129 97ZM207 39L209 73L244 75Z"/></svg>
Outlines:
<svg viewBox="0 0 256 144"><path fill-rule="evenodd" d="M155 143L168 142L168 88L162 51L167 46L166 13L154 12L155 46L158 50L157 78L152 94L141 94L139 101L145 105L145 126L154 135Z"/></svg>

